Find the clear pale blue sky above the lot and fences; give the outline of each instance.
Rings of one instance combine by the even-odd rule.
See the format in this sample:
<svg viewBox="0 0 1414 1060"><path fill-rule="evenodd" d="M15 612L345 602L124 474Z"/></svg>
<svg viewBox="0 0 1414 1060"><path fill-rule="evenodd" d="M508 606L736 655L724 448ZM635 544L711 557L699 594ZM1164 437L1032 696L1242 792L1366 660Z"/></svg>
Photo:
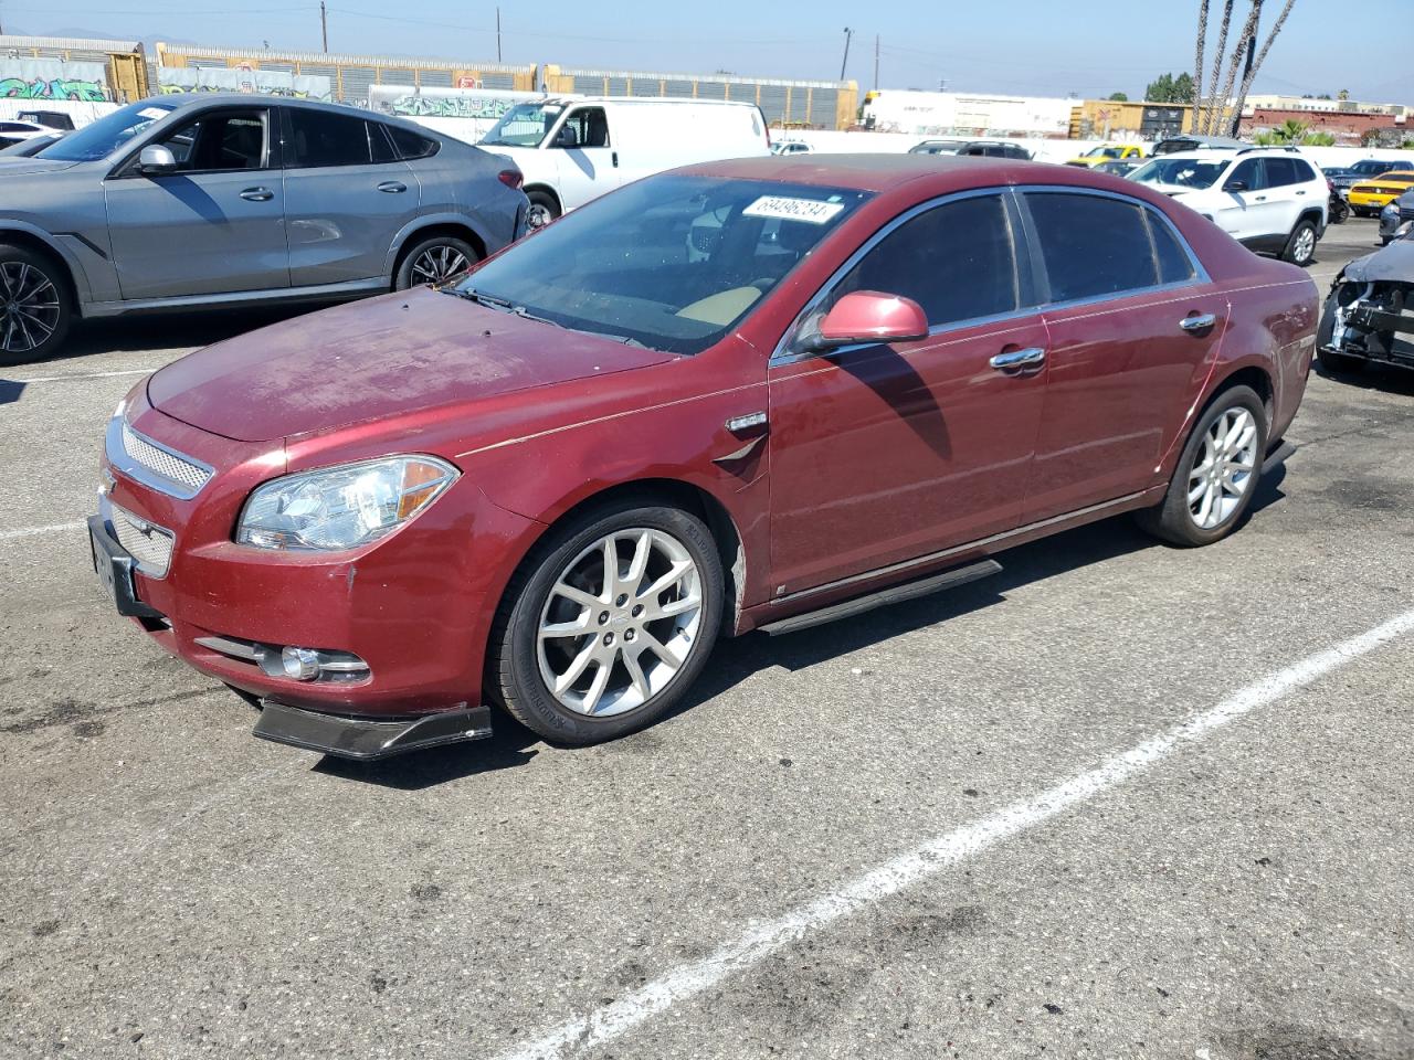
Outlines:
<svg viewBox="0 0 1414 1060"><path fill-rule="evenodd" d="M0 25L37 35L83 30L123 40L320 49L317 0L246 3L0 0ZM1411 4L1360 0L1360 24L1407 25ZM1246 6L1237 0L1237 11ZM1281 0L1267 0L1268 23L1280 7ZM1407 34L1352 34L1349 11L1339 0L1295 0L1254 90L1346 89L1352 99L1414 105ZM1124 92L1131 99L1141 98L1158 73L1192 69L1196 18L1198 0L536 0L503 3L501 10L508 64L833 79L850 27L846 76L861 89L874 86L878 38L880 88L946 83L957 92L1083 98ZM486 61L496 55L495 3L328 0L328 24L331 51Z"/></svg>

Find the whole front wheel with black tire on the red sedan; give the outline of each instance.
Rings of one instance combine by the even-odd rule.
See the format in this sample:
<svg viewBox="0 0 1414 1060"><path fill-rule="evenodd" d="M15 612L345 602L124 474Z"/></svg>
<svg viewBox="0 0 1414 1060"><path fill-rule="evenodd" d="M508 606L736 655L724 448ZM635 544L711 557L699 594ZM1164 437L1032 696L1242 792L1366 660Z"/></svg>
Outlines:
<svg viewBox="0 0 1414 1060"><path fill-rule="evenodd" d="M609 540L622 579L611 591L604 584ZM646 563L635 575L641 548ZM684 561L689 572L646 594ZM551 531L508 585L492 623L486 691L527 729L559 743L641 729L670 709L706 666L721 626L723 585L717 546L696 516L642 499L585 512ZM684 608L694 592L696 609ZM673 613L641 618L645 606ZM547 629L556 635L543 636ZM650 647L655 642L674 649L677 666ZM557 678L567 681L559 693Z"/></svg>

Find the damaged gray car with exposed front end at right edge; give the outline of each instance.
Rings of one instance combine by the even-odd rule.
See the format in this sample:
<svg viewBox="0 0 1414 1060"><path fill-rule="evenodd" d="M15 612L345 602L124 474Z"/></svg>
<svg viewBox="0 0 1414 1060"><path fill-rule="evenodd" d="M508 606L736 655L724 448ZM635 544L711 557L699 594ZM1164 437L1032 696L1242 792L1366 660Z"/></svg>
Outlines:
<svg viewBox="0 0 1414 1060"><path fill-rule="evenodd" d="M1414 237L1359 257L1335 278L1316 355L1328 372L1369 363L1414 369Z"/></svg>

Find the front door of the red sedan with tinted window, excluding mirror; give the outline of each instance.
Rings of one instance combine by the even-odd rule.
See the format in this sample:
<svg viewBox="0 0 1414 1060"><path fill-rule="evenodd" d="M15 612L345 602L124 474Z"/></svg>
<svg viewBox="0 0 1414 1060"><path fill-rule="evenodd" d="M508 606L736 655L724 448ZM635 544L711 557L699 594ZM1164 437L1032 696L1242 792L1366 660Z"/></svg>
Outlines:
<svg viewBox="0 0 1414 1060"><path fill-rule="evenodd" d="M773 595L1015 527L1045 365L1015 213L1003 194L953 198L895 222L806 315L855 290L913 298L933 334L769 369Z"/></svg>

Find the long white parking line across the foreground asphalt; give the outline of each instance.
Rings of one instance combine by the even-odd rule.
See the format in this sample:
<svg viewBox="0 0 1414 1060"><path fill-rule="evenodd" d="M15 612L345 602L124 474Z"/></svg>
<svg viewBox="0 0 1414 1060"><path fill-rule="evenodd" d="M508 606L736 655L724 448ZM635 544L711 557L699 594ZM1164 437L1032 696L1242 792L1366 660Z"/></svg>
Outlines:
<svg viewBox="0 0 1414 1060"><path fill-rule="evenodd" d="M797 938L1045 824L1063 810L1143 773L1176 749L1206 739L1229 722L1275 702L1410 630L1414 630L1414 611L1406 611L1360 636L1268 674L1212 709L1151 736L1094 769L1041 794L1018 800L974 824L937 835L785 916L745 929L707 957L679 965L615 1002L561 1023L519 1049L503 1053L501 1060L551 1060L612 1042L673 1005L711 989L730 975L747 971Z"/></svg>

